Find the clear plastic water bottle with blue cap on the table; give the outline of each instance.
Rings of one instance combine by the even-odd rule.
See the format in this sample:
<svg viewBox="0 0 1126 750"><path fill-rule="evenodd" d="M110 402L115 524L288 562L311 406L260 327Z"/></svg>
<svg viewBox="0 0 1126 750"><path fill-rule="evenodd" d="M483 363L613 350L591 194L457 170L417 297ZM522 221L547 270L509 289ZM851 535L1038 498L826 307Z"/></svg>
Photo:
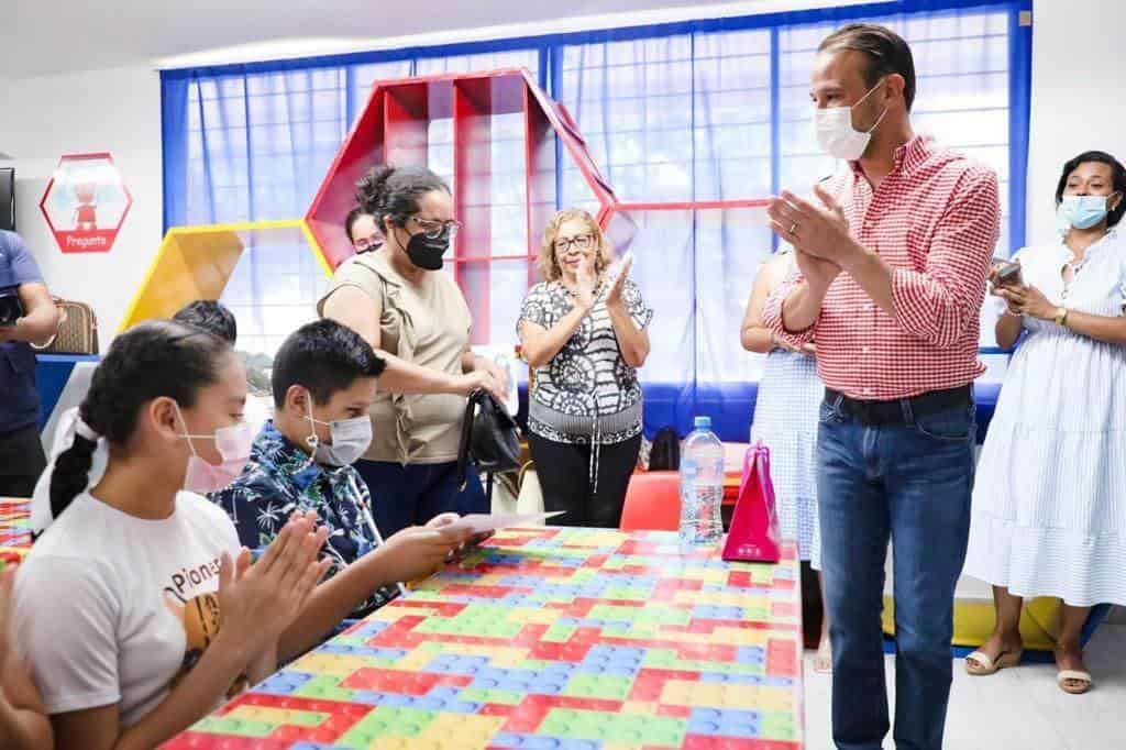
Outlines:
<svg viewBox="0 0 1126 750"><path fill-rule="evenodd" d="M715 544L723 536L723 443L711 417L697 417L696 429L680 450L680 545Z"/></svg>

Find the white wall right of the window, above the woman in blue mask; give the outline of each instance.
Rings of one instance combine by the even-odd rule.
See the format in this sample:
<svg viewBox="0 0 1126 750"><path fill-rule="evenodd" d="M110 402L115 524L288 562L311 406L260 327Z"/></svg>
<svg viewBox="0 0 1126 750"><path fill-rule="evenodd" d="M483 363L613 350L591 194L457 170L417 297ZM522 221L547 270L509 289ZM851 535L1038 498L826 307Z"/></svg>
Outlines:
<svg viewBox="0 0 1126 750"><path fill-rule="evenodd" d="M1126 160L1126 2L1036 0L1028 133L1029 243L1052 241L1063 163L1083 151Z"/></svg>

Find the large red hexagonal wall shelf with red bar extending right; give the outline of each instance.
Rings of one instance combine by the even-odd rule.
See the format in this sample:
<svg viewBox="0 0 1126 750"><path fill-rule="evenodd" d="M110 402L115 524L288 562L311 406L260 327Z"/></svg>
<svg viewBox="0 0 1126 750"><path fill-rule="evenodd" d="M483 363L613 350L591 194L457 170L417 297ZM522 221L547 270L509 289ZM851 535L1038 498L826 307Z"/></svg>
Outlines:
<svg viewBox="0 0 1126 750"><path fill-rule="evenodd" d="M356 182L374 164L428 166L447 179L454 215L454 278L473 314L473 343L485 343L511 322L491 321L490 296L509 295L538 280L536 258L556 212L564 168L571 159L590 190L597 220L624 251L649 212L739 211L766 223L763 198L626 203L617 198L587 149L574 119L525 69L377 81L305 214L332 268L352 253L345 216L356 205ZM745 218L743 220L745 221ZM503 225L504 232L494 227ZM513 232L513 226L520 227ZM513 235L522 238L511 244ZM495 322L497 325L492 323Z"/></svg>

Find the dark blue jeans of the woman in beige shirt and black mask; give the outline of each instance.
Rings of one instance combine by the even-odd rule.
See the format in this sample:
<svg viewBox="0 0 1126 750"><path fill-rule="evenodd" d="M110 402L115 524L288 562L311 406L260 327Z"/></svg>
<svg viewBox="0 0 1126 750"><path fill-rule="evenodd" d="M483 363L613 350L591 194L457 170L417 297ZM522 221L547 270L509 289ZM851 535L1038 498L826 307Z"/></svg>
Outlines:
<svg viewBox="0 0 1126 750"><path fill-rule="evenodd" d="M403 466L357 461L356 471L372 491L372 516L384 538L447 511L463 516L489 512L489 501L473 463L465 473L464 490L457 482L457 462Z"/></svg>

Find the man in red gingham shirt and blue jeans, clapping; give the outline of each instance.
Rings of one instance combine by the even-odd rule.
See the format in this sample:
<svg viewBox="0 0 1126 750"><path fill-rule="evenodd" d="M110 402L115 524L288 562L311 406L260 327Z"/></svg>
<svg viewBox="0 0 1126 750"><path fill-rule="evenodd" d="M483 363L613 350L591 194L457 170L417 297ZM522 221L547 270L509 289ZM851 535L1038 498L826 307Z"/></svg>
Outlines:
<svg viewBox="0 0 1126 750"><path fill-rule="evenodd" d="M819 143L851 169L768 213L801 275L766 324L815 342L822 565L833 649L833 739L875 750L888 730L881 609L892 541L897 748L940 750L954 588L969 529L978 312L1000 206L997 176L915 135L910 47L879 26L822 42Z"/></svg>

